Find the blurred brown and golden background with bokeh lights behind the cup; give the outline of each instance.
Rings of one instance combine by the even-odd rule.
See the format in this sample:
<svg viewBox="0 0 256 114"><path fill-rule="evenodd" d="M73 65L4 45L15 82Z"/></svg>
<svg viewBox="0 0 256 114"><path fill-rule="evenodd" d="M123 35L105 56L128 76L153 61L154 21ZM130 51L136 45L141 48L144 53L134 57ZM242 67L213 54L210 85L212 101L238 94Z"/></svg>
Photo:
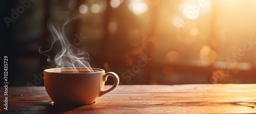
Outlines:
<svg viewBox="0 0 256 114"><path fill-rule="evenodd" d="M116 72L120 84L256 83L254 0L0 3L10 86L44 85L42 71L56 67L38 51L54 39L47 23L68 18L75 18L65 26L68 40L90 54L91 67ZM59 47L47 52L50 59Z"/></svg>

